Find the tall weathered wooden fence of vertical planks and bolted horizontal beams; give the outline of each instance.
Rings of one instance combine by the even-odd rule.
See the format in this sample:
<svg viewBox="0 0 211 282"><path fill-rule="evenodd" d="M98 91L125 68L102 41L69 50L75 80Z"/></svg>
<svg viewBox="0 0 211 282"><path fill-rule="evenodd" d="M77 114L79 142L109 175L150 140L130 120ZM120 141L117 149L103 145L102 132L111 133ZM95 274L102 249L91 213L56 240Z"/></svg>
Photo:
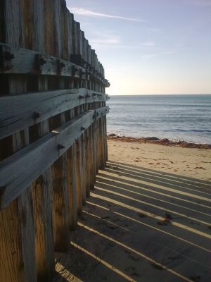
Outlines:
<svg viewBox="0 0 211 282"><path fill-rule="evenodd" d="M107 160L104 69L63 0L0 2L0 281L51 281Z"/></svg>

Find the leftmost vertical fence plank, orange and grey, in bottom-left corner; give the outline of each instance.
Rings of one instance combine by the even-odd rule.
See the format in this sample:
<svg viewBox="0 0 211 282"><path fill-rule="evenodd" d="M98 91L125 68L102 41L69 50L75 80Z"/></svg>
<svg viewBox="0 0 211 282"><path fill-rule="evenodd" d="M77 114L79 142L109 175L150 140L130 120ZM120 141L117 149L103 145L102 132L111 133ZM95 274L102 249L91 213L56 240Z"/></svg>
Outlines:
<svg viewBox="0 0 211 282"><path fill-rule="evenodd" d="M25 28L23 27L22 1L4 1L4 39L13 47L24 47ZM1 10L2 14L2 10ZM20 94L26 92L26 79L11 75L8 78L8 92ZM13 154L29 143L28 130L22 130L8 138L11 143L6 155ZM3 281L37 281L34 252L34 220L31 188L11 202L0 212L0 274Z"/></svg>

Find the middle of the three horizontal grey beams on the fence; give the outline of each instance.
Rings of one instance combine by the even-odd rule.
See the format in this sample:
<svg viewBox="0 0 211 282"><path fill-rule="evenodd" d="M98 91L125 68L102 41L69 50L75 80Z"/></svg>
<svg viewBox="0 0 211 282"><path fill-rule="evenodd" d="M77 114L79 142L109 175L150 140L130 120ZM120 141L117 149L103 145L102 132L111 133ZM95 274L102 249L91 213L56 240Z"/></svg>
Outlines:
<svg viewBox="0 0 211 282"><path fill-rule="evenodd" d="M75 106L108 100L85 88L0 97L0 139Z"/></svg>

